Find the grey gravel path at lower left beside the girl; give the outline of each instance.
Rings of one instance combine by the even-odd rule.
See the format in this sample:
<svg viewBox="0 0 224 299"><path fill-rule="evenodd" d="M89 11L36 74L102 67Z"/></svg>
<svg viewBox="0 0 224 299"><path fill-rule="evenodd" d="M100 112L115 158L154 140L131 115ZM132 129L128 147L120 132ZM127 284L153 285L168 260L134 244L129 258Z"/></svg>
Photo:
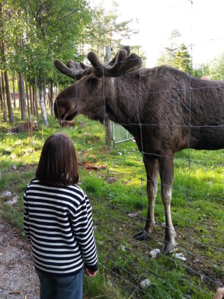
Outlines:
<svg viewBox="0 0 224 299"><path fill-rule="evenodd" d="M30 245L18 229L3 219L0 219L0 298L39 298L39 280Z"/></svg>

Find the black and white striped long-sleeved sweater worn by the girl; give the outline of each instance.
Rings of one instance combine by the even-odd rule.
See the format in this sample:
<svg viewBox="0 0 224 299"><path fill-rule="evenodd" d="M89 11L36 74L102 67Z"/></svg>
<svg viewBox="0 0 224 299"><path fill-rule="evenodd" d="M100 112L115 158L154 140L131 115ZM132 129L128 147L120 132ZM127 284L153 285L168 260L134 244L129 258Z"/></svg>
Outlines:
<svg viewBox="0 0 224 299"><path fill-rule="evenodd" d="M77 185L52 187L32 180L24 192L24 232L35 268L51 276L97 271L91 206Z"/></svg>

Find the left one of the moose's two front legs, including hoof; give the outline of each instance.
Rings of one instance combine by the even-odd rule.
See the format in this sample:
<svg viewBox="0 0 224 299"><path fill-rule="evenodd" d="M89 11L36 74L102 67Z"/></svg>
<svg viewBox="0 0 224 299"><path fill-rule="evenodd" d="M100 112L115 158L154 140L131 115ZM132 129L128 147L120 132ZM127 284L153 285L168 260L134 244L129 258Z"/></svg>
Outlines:
<svg viewBox="0 0 224 299"><path fill-rule="evenodd" d="M157 194L159 164L157 159L149 158L146 155L144 155L143 161L147 174L148 216L144 230L134 236L136 240L148 239L151 237L152 232L155 231L154 206Z"/></svg>

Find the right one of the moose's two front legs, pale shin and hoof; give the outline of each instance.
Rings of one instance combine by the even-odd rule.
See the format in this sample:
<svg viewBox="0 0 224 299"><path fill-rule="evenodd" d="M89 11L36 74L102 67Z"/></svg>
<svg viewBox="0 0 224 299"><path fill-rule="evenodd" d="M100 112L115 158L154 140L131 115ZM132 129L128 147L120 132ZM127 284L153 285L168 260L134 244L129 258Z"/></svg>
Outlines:
<svg viewBox="0 0 224 299"><path fill-rule="evenodd" d="M173 157L162 157L159 160L159 173L161 179L161 197L165 209L166 230L165 241L163 243L162 252L168 254L176 247L176 232L173 227L171 218L171 199L172 199L172 183L174 175Z"/></svg>

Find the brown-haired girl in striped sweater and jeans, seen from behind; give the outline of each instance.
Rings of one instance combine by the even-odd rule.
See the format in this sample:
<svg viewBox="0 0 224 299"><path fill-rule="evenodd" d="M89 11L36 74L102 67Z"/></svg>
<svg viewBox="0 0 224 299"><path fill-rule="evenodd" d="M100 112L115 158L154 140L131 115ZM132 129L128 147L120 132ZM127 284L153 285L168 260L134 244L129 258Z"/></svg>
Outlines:
<svg viewBox="0 0 224 299"><path fill-rule="evenodd" d="M65 134L44 143L36 178L24 192L24 231L40 280L40 299L82 299L83 268L96 276L91 206L79 180L76 152Z"/></svg>

